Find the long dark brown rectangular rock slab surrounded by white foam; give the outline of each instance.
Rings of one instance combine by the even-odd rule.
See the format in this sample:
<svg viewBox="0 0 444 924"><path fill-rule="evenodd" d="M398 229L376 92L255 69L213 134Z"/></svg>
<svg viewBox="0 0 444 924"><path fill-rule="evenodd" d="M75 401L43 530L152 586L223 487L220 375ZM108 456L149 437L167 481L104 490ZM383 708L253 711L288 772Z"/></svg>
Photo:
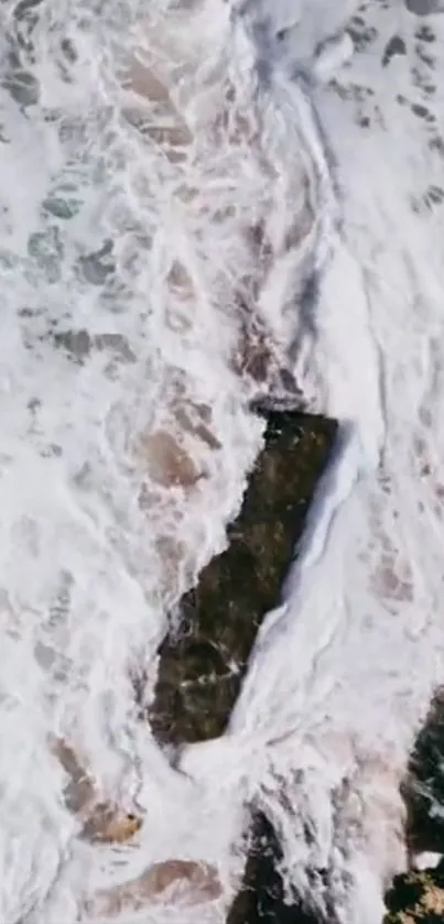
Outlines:
<svg viewBox="0 0 444 924"><path fill-rule="evenodd" d="M228 530L229 546L183 597L180 628L160 649L150 721L163 743L223 733L336 433L336 423L320 416L294 411L267 416L264 447Z"/></svg>

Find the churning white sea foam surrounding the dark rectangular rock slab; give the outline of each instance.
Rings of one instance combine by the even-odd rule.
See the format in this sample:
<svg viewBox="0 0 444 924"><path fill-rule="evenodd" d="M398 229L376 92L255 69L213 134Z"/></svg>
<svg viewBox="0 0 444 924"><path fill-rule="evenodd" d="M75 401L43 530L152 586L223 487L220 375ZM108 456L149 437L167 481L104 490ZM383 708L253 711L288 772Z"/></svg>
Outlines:
<svg viewBox="0 0 444 924"><path fill-rule="evenodd" d="M355 46L315 62L351 0L147 6L9 0L0 13L0 920L73 924L85 895L169 857L236 879L242 802L262 787L289 882L322 910L323 870L339 920L376 924L404 859L400 774L444 674L444 25L373 0ZM424 22L433 43L415 36ZM393 33L407 55L382 67ZM8 84L10 47L40 87L30 106ZM187 160L124 117L137 47L171 90ZM164 115L145 106L151 124ZM71 217L48 206L57 194ZM248 237L261 221L271 261ZM301 305L313 268L320 297ZM230 365L239 292L342 435L230 733L189 749L189 780L138 721L129 674L223 546L261 445L252 383ZM52 338L66 329L120 340L76 363ZM218 448L183 431L180 403L210 409ZM194 486L150 480L138 437L159 430L204 474ZM78 839L52 736L147 813L133 848Z"/></svg>

